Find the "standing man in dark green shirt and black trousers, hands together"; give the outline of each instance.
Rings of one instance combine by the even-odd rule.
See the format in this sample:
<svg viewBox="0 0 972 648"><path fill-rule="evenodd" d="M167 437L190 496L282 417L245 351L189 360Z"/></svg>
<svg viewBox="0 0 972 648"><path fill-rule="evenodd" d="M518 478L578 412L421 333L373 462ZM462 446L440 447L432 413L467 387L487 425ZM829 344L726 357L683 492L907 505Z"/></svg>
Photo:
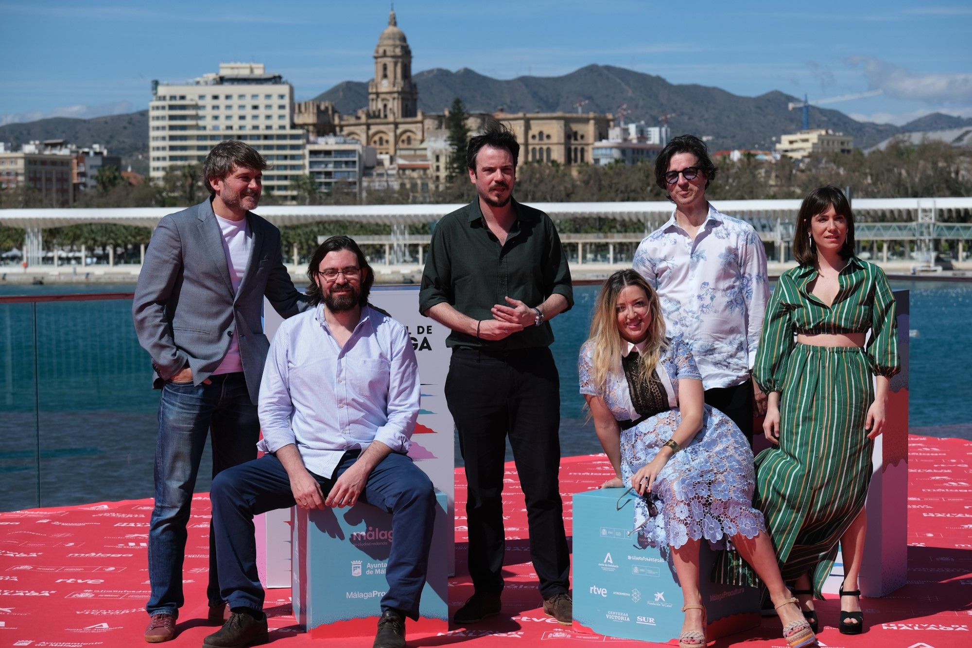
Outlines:
<svg viewBox="0 0 972 648"><path fill-rule="evenodd" d="M455 614L459 624L502 608L507 435L543 611L565 625L573 615L558 479L560 380L548 323L573 306L571 271L549 217L512 198L519 151L513 134L495 123L469 140L477 197L436 224L419 297L422 313L452 329L445 397L466 462L474 589Z"/></svg>

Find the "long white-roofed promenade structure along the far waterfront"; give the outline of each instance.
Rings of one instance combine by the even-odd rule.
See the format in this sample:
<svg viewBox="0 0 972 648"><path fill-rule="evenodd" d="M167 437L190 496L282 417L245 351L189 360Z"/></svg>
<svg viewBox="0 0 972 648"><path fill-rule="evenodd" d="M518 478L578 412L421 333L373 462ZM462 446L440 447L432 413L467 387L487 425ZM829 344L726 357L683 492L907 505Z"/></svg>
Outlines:
<svg viewBox="0 0 972 648"><path fill-rule="evenodd" d="M574 278L603 279L611 271L628 268L642 237L665 223L672 203L651 202L537 202L558 224ZM800 200L713 200L720 211L741 218L755 228L767 248L771 274L791 267L793 222ZM458 204L404 205L274 205L260 215L286 228L321 222L367 225L385 234L356 236L385 283L417 281L431 240L429 229ZM0 209L0 226L25 232L20 256L6 258L0 280L17 282L132 280L141 270L145 246L126 250L129 263L116 263L116 249L62 250L45 244L45 230L79 224L114 224L154 228L179 207L115 209ZM860 198L853 201L857 252L885 267L888 273L912 270L972 271L968 245L972 242L972 198ZM575 233L573 225L584 223ZM423 234L419 234L423 233ZM306 251L304 251L306 252ZM296 246L285 249L288 269L304 271ZM134 263L132 263L132 261ZM23 267L21 264L25 263Z"/></svg>

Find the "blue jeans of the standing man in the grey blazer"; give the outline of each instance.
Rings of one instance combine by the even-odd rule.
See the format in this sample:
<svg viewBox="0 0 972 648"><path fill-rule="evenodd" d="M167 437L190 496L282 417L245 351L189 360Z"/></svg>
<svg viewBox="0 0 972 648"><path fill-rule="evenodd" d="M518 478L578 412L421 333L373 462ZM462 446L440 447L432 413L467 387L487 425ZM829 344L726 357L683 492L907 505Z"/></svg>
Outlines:
<svg viewBox="0 0 972 648"><path fill-rule="evenodd" d="M243 374L221 374L210 379L212 384L167 382L162 387L158 403L156 508L149 529L152 594L145 606L149 614L177 616L185 603L182 580L186 525L206 437L210 437L213 450L213 477L257 456L260 419ZM210 605L223 602L216 568L210 522L206 590Z"/></svg>

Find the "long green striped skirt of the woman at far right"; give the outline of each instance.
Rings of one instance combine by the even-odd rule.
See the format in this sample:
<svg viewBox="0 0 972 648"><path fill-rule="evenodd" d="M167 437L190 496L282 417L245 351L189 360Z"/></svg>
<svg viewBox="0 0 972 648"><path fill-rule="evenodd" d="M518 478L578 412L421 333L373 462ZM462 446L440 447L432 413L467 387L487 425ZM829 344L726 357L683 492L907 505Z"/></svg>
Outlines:
<svg viewBox="0 0 972 648"><path fill-rule="evenodd" d="M810 574L817 597L867 499L874 442L864 423L873 402L864 349L797 344L783 381L780 445L756 456L753 503L783 580Z"/></svg>

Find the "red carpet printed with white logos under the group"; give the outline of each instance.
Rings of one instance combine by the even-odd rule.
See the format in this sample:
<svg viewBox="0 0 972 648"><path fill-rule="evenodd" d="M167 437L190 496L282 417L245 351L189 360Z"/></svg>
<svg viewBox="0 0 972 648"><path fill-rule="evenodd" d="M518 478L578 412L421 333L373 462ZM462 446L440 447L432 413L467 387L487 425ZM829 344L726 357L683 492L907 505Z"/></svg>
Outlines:
<svg viewBox="0 0 972 648"><path fill-rule="evenodd" d="M949 648L972 646L972 443L957 439L910 437L908 585L884 598L864 598L868 630L840 634L835 598L819 603L821 646ZM528 645L540 648L609 644L648 646L644 642L576 634L543 616L536 577L529 561L523 498L511 464L506 467L506 507L510 538L506 553L503 616L444 635L409 632L410 646L464 643L470 648ZM602 484L609 468L604 457L565 458L561 487L567 530L571 530L570 494ZM451 609L471 594L465 573L465 484L456 473L460 574L450 582ZM193 502L185 582L187 604L176 639L166 645L199 646L214 631L204 625L209 500ZM142 631L149 594L146 542L150 500L130 500L82 507L0 513L0 646L60 648L144 646ZM290 590L269 590L265 609L273 645L281 648L339 645L367 648L361 638L312 639L291 614ZM710 645L752 648L785 646L776 619L761 628ZM664 645L664 644L662 644Z"/></svg>

